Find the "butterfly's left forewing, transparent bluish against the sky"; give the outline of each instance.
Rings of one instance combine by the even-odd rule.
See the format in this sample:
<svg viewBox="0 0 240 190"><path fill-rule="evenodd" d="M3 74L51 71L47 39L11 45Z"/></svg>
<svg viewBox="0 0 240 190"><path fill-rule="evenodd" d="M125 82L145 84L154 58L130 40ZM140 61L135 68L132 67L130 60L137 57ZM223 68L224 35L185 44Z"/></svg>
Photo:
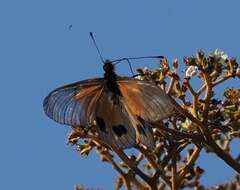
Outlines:
<svg viewBox="0 0 240 190"><path fill-rule="evenodd" d="M84 80L52 91L43 102L44 111L54 121L86 126L95 119L95 104L103 88L103 79Z"/></svg>

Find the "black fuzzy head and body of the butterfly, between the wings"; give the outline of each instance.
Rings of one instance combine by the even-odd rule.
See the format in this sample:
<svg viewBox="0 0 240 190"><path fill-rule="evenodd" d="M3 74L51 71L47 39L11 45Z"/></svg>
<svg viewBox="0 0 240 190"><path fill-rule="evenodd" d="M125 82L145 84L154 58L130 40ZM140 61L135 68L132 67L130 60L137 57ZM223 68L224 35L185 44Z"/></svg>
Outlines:
<svg viewBox="0 0 240 190"><path fill-rule="evenodd" d="M122 96L119 85L117 83L117 74L114 71L114 65L110 60L106 60L103 65L104 79L106 81L107 89L113 94L112 99L118 99Z"/></svg>

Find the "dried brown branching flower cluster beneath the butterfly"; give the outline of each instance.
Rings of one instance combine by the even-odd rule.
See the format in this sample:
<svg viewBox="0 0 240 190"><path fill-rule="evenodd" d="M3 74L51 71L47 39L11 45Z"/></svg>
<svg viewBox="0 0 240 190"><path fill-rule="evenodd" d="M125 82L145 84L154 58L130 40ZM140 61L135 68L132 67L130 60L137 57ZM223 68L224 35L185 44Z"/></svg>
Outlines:
<svg viewBox="0 0 240 190"><path fill-rule="evenodd" d="M215 97L214 89L231 78L240 78L240 67L234 58L216 50L208 55L199 50L184 58L185 76L178 74L179 63L172 65L162 59L156 70L138 69L137 78L151 80L171 97L176 114L165 121L152 123L156 146L150 151L141 145L138 151L126 153L102 142L94 126L74 127L69 143L81 155L96 150L102 161L119 173L115 189L239 189L239 175L229 184L206 188L200 183L204 169L196 165L202 150L216 154L236 173L240 173L240 154L231 156L231 142L240 137L240 89L225 89L223 99ZM201 85L196 89L191 80ZM240 152L239 152L240 153ZM118 159L116 159L118 158ZM117 160L121 162L117 162ZM217 159L217 158L216 158Z"/></svg>

